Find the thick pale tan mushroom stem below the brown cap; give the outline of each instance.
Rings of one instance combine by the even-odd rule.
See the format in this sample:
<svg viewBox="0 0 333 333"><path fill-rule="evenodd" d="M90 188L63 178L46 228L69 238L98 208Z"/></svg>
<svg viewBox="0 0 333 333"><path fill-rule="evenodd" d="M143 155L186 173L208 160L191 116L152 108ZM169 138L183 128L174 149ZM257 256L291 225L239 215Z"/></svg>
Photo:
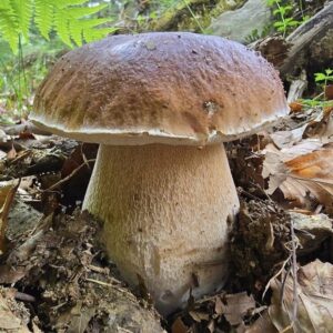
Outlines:
<svg viewBox="0 0 333 333"><path fill-rule="evenodd" d="M104 221L123 278L139 274L169 314L228 275L228 219L239 199L223 145L100 145L83 209Z"/></svg>

